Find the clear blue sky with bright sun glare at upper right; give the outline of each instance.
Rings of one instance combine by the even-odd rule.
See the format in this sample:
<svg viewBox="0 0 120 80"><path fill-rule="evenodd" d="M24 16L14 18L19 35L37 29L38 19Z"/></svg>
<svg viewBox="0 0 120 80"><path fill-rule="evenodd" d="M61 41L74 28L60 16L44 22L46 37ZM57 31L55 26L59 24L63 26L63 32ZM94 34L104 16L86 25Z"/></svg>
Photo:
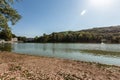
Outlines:
<svg viewBox="0 0 120 80"><path fill-rule="evenodd" d="M17 36L78 31L120 24L120 0L21 0L15 8L22 18L11 26Z"/></svg>

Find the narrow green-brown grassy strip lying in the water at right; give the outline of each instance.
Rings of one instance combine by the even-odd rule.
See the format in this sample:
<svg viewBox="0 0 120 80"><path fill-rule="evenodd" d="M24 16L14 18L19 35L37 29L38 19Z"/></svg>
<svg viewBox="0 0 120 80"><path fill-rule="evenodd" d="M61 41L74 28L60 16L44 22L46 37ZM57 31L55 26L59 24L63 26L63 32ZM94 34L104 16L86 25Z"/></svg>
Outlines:
<svg viewBox="0 0 120 80"><path fill-rule="evenodd" d="M103 50L81 50L83 53L92 53L95 55L108 55L108 56L115 56L120 57L120 52L113 52L113 51L103 51Z"/></svg>

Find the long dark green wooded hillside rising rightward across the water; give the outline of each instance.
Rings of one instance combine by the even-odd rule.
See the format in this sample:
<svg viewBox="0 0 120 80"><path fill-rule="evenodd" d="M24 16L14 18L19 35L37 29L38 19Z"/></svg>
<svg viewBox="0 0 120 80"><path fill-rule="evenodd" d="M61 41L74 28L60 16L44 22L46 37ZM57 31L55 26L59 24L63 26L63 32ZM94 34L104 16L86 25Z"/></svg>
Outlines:
<svg viewBox="0 0 120 80"><path fill-rule="evenodd" d="M68 43L120 43L120 26L86 29L80 31L53 32L37 37L35 42L68 42Z"/></svg>

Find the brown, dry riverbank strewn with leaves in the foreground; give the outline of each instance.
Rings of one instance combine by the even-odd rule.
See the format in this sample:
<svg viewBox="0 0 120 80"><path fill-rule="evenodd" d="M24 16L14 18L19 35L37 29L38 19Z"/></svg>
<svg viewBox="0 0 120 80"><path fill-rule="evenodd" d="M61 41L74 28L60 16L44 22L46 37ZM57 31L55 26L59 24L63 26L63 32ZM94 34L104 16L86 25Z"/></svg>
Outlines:
<svg viewBox="0 0 120 80"><path fill-rule="evenodd" d="M0 52L1 80L119 80L120 67Z"/></svg>

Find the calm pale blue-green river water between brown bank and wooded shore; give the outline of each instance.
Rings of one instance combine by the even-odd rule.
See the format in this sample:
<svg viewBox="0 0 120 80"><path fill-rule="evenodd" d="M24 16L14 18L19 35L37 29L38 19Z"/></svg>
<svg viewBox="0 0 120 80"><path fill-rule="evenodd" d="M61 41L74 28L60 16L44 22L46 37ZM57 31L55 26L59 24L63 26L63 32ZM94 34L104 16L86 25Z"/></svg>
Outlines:
<svg viewBox="0 0 120 80"><path fill-rule="evenodd" d="M8 44L7 44L8 45ZM4 47L6 47L4 45ZM17 43L10 44L11 52L30 54L63 59L96 62L120 66L120 56L96 55L81 50L103 50L118 52L120 55L120 44L82 44L82 43ZM6 48L5 48L6 49Z"/></svg>

